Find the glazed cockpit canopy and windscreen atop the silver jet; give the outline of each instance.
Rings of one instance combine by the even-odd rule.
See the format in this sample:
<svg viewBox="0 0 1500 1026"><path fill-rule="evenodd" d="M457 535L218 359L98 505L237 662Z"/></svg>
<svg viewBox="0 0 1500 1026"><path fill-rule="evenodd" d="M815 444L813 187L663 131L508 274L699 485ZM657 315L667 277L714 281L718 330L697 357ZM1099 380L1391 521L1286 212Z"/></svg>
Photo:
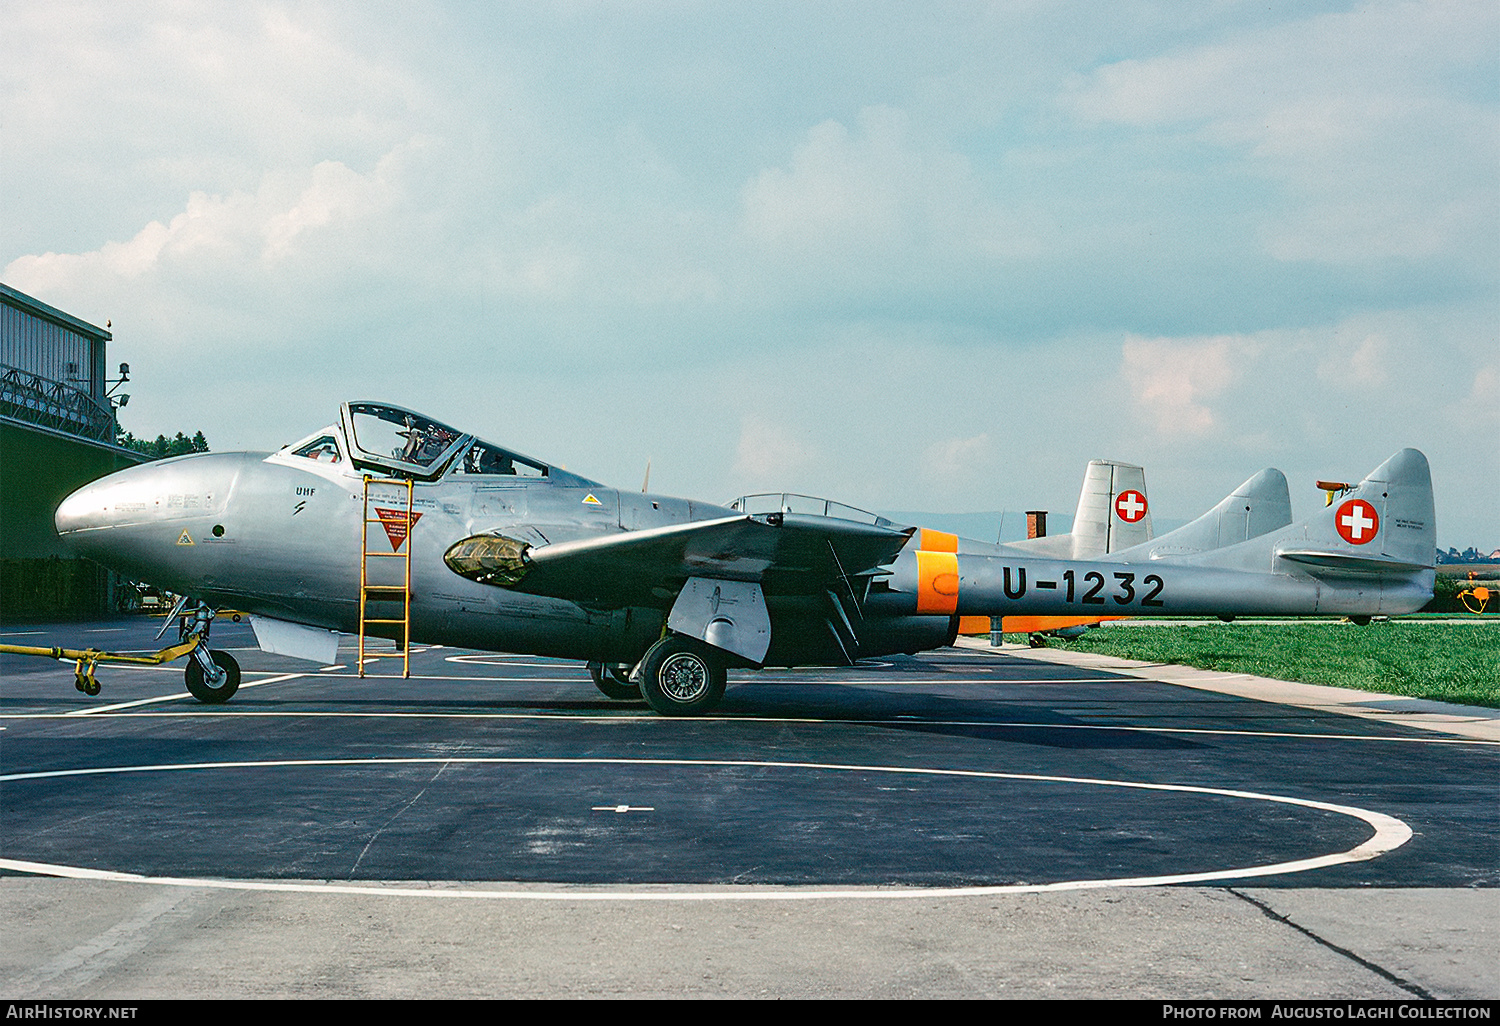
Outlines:
<svg viewBox="0 0 1500 1026"><path fill-rule="evenodd" d="M346 402L339 424L288 446L285 454L321 464L348 464L357 471L375 471L432 482L444 474L492 474L502 477L574 478L573 474L528 456L482 441L412 410L384 402Z"/></svg>

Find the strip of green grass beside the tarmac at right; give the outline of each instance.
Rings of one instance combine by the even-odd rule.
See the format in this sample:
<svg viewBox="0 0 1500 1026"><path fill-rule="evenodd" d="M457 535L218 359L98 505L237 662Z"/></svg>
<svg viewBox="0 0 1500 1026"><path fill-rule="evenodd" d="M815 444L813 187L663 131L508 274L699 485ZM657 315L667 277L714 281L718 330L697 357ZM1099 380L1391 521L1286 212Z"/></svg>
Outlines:
<svg viewBox="0 0 1500 1026"><path fill-rule="evenodd" d="M1047 646L1500 708L1500 622L1096 627Z"/></svg>

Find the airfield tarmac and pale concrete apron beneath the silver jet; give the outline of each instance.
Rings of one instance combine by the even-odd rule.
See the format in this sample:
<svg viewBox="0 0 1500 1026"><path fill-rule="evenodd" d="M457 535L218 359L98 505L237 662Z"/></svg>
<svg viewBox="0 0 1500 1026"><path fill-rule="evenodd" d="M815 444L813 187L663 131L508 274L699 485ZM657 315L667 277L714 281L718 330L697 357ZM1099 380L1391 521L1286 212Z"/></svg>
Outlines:
<svg viewBox="0 0 1500 1026"><path fill-rule="evenodd" d="M224 706L0 657L0 996L1500 996L1492 710L974 645L670 720L213 644Z"/></svg>

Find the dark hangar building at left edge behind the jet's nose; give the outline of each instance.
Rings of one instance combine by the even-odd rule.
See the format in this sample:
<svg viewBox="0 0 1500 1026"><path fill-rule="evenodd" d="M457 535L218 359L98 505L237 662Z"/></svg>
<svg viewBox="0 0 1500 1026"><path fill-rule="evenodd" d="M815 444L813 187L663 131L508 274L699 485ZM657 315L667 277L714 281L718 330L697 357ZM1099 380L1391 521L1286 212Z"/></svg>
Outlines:
<svg viewBox="0 0 1500 1026"><path fill-rule="evenodd" d="M116 444L110 338L0 285L0 622L114 609L112 574L52 528L75 488L146 459Z"/></svg>

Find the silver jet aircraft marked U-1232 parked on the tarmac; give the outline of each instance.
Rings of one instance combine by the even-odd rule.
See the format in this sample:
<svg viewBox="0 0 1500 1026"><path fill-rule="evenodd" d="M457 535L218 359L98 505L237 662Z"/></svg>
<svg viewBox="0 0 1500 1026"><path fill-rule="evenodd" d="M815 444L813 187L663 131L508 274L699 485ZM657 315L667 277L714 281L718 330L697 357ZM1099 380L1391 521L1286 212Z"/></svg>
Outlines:
<svg viewBox="0 0 1500 1026"><path fill-rule="evenodd" d="M939 648L960 615L1362 621L1431 598L1422 453L1398 452L1300 524L1284 494L1263 471L1178 531L1071 558L796 495L718 506L616 490L410 410L350 402L276 453L111 474L56 522L80 554L190 596L184 632L202 642L213 610L232 608L267 651L321 662L332 632L358 632L362 650L370 633L578 658L606 694L692 716L718 704L730 666ZM1130 495L1118 501L1128 518ZM200 644L186 678L224 702L238 668Z"/></svg>

